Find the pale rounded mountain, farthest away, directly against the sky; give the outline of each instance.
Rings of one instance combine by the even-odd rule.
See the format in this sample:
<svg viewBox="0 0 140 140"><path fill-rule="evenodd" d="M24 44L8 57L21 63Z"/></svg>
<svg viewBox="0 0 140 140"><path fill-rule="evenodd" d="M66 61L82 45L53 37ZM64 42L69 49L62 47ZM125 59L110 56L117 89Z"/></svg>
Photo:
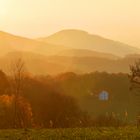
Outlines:
<svg viewBox="0 0 140 140"><path fill-rule="evenodd" d="M81 30L62 30L49 37L39 38L38 40L75 49L89 49L111 53L117 56L140 53L140 49L133 46L92 35Z"/></svg>

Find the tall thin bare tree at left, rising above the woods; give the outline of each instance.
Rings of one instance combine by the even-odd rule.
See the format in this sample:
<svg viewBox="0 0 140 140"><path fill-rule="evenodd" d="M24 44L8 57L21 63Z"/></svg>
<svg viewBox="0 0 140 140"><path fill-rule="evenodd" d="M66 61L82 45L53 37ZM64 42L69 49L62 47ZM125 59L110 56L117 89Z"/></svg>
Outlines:
<svg viewBox="0 0 140 140"><path fill-rule="evenodd" d="M19 58L14 61L11 65L11 76L12 76L12 94L14 95L14 128L24 127L23 117L19 108L19 101L22 94L23 80L25 73L24 61Z"/></svg>

